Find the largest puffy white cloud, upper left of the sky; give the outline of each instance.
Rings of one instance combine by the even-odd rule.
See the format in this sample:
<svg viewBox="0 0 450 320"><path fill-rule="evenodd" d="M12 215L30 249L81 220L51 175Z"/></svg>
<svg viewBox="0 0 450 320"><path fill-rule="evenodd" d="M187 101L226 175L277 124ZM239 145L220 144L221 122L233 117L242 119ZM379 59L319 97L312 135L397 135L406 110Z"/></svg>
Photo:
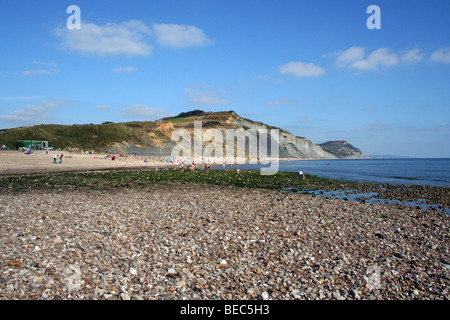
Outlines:
<svg viewBox="0 0 450 320"><path fill-rule="evenodd" d="M143 22L131 20L99 26L83 22L81 29L56 29L62 45L72 51L95 55L149 55L147 39L152 32Z"/></svg>

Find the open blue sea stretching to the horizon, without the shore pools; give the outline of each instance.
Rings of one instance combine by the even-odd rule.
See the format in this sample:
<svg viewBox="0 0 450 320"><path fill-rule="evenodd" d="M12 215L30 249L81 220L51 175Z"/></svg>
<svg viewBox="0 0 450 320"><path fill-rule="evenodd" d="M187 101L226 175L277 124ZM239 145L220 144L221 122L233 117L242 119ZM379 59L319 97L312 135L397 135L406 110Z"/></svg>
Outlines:
<svg viewBox="0 0 450 320"><path fill-rule="evenodd" d="M235 164L225 169L260 170L261 167L268 165ZM450 158L280 161L278 171L303 171L318 177L358 182L450 186Z"/></svg>

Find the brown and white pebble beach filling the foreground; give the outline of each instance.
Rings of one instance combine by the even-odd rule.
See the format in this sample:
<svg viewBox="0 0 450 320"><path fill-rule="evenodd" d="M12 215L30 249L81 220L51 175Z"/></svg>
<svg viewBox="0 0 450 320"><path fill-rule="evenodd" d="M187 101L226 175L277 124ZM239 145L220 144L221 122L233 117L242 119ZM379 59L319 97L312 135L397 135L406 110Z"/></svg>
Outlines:
<svg viewBox="0 0 450 320"><path fill-rule="evenodd" d="M450 297L449 217L159 183L2 191L0 299Z"/></svg>

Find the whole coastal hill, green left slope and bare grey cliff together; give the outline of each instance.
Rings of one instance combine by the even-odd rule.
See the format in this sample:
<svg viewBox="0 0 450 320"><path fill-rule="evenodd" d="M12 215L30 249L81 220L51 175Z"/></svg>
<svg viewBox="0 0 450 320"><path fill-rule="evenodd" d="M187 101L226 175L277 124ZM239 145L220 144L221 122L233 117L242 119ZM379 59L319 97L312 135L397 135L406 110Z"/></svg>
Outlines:
<svg viewBox="0 0 450 320"><path fill-rule="evenodd" d="M200 139L196 134L200 131L198 127L196 129L195 123L201 124ZM266 141L267 153L271 155L273 140L271 140L270 134L277 129L279 132L279 158L330 159L343 157L343 151L336 152L333 148L331 151L327 150L326 144L325 148L321 147L306 138L294 136L280 128L242 118L234 111L203 112L195 110L157 121L21 127L4 130L4 133L0 135L0 144L14 149L17 140L45 140L50 141L54 148L61 149L93 149L101 152L125 154L138 152L148 156L170 156L173 148L180 145L180 140L172 141L172 134L177 129L189 133L193 139L191 147L197 143L202 146L204 152L215 150L212 155L217 152L220 155L220 150L224 157L227 155L223 143L226 141L227 129L234 129L234 132L247 135L247 139L236 138L234 140L236 141L235 154L241 152L240 154L245 154L245 157L251 156L252 154L249 154L251 148L256 145L260 146L261 141ZM258 130L261 129L265 129L267 132L266 140L261 140L259 134L256 140L248 139L249 133L260 132ZM223 138L222 141L217 139L220 135ZM350 150L349 146L346 145L343 150Z"/></svg>

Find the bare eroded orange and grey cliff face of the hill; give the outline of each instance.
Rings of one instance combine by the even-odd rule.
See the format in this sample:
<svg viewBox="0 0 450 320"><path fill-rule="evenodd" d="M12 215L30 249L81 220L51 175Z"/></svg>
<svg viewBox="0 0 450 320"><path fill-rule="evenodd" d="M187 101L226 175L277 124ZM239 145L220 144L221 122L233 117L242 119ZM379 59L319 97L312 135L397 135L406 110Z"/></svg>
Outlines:
<svg viewBox="0 0 450 320"><path fill-rule="evenodd" d="M172 136L177 137L172 140ZM139 141L138 141L139 140ZM189 142L190 143L189 143ZM330 159L336 156L312 141L239 117L235 112L201 113L159 120L134 141L109 146L111 152L170 156L202 146L204 157ZM278 145L278 148L276 148Z"/></svg>

